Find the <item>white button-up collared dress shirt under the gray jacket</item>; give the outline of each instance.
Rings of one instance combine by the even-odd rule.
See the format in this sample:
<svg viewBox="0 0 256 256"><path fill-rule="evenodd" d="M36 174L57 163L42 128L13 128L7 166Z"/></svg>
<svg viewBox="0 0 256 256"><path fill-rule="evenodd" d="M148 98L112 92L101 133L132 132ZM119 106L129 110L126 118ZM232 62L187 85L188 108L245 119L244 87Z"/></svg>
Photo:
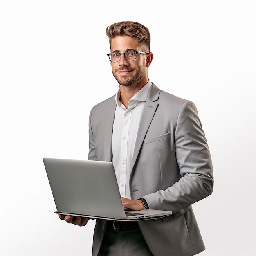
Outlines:
<svg viewBox="0 0 256 256"><path fill-rule="evenodd" d="M144 85L128 102L128 109L121 103L118 90L115 103L115 119L112 135L112 162L115 168L119 191L122 197L130 199L129 180L132 156L139 128L141 114L151 88L151 81Z"/></svg>

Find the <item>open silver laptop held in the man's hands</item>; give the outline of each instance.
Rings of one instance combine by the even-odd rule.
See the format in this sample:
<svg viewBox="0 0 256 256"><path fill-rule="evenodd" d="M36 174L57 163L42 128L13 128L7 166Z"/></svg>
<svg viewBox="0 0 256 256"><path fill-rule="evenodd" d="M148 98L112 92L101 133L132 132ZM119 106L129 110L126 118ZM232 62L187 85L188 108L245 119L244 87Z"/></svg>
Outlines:
<svg viewBox="0 0 256 256"><path fill-rule="evenodd" d="M55 213L104 220L148 220L171 211L124 209L112 162L43 158Z"/></svg>

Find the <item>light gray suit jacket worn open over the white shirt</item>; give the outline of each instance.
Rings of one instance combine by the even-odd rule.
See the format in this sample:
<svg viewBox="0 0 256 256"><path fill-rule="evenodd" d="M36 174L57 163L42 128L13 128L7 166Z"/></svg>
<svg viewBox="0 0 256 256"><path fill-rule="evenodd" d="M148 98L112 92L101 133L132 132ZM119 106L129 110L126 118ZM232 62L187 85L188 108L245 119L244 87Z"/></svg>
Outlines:
<svg viewBox="0 0 256 256"><path fill-rule="evenodd" d="M115 96L94 106L89 118L90 160L111 161ZM155 256L192 256L205 249L191 204L213 190L211 156L195 105L157 88L150 90L137 134L130 176L132 200L172 216L139 222ZM93 256L106 228L97 220Z"/></svg>

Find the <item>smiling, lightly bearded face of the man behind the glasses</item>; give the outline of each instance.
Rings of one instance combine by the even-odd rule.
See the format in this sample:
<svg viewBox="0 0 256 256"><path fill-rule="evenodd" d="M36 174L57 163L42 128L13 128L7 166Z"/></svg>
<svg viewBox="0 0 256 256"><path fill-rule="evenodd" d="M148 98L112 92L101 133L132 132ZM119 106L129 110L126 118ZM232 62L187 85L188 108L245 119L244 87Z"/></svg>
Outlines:
<svg viewBox="0 0 256 256"><path fill-rule="evenodd" d="M129 50L143 52L138 46L136 38L131 36L117 36L112 39L111 52L125 53ZM147 82L146 54L137 54L135 61L127 61L121 55L119 62L110 62L112 73L119 85L132 85L134 83Z"/></svg>

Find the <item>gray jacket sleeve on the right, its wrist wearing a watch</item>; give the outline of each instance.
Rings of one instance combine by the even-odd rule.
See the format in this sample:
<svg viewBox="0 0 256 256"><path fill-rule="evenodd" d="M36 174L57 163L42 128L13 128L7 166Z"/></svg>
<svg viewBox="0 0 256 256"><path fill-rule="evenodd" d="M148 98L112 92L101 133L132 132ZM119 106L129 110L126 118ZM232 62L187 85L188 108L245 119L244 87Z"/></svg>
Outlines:
<svg viewBox="0 0 256 256"><path fill-rule="evenodd" d="M213 191L213 167L195 105L186 101L177 117L175 155L180 180L165 190L144 195L151 209L180 211ZM172 168L168 168L171 172Z"/></svg>

